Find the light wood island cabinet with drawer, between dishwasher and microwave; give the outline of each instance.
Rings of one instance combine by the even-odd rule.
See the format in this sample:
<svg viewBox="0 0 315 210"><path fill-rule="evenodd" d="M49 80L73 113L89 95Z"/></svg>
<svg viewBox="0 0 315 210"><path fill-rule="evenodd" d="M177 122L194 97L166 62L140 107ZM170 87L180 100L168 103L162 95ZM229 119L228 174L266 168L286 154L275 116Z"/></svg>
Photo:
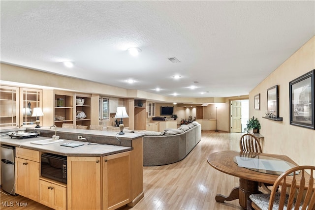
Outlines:
<svg viewBox="0 0 315 210"><path fill-rule="evenodd" d="M15 191L36 202L39 201L39 151L16 149Z"/></svg>

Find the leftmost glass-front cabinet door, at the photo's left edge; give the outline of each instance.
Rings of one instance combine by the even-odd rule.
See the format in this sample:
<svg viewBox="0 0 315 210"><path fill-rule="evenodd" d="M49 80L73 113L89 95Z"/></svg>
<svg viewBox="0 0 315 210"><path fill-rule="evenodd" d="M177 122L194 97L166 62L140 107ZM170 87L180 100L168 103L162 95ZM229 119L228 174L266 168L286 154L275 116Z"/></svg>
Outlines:
<svg viewBox="0 0 315 210"><path fill-rule="evenodd" d="M19 127L20 89L0 86L0 126L5 128Z"/></svg>

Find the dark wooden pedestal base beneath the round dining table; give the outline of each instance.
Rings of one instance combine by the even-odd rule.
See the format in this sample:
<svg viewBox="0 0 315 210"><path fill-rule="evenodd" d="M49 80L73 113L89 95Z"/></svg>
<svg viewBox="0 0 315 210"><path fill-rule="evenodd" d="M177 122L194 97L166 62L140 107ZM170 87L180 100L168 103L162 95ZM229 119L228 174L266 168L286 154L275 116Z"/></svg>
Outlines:
<svg viewBox="0 0 315 210"><path fill-rule="evenodd" d="M252 209L250 195L259 193L258 182L245 180L240 178L240 186L234 187L228 196L223 196L221 194L216 195L216 201L224 203L224 201L233 201L238 199L240 206L243 209Z"/></svg>

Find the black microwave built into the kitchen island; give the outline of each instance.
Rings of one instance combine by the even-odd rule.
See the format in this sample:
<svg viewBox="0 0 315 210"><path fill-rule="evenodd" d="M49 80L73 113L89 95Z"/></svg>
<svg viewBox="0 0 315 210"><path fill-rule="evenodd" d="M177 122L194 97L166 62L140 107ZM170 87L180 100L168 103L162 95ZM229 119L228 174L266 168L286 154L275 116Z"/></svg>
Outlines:
<svg viewBox="0 0 315 210"><path fill-rule="evenodd" d="M67 183L67 157L51 153L42 154L41 176Z"/></svg>

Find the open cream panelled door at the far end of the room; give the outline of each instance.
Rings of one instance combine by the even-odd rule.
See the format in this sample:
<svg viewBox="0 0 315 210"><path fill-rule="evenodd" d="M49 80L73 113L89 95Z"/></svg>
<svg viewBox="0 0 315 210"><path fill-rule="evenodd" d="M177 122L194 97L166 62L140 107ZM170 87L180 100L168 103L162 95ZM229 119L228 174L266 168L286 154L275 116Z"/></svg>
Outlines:
<svg viewBox="0 0 315 210"><path fill-rule="evenodd" d="M232 101L231 102L231 132L240 133L242 132L242 102Z"/></svg>

